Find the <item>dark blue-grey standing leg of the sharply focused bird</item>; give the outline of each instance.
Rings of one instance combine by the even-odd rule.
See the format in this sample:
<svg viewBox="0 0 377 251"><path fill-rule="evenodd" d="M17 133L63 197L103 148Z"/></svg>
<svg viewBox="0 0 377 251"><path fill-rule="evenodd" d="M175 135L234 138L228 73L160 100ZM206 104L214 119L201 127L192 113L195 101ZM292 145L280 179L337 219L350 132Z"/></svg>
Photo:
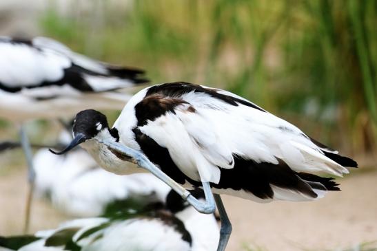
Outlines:
<svg viewBox="0 0 377 251"><path fill-rule="evenodd" d="M218 241L217 251L224 251L227 247L227 241L229 241L230 234L232 233L232 223L230 223L230 220L227 217L227 212L225 211L220 195L214 194L214 200L216 201L218 214L220 215L221 220L220 240Z"/></svg>

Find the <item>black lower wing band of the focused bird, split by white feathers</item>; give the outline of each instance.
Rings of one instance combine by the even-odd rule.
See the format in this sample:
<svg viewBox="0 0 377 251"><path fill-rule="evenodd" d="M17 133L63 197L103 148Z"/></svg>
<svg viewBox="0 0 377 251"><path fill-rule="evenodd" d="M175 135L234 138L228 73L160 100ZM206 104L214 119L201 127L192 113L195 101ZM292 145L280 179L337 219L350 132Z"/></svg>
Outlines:
<svg viewBox="0 0 377 251"><path fill-rule="evenodd" d="M201 187L201 182L190 179L176 166L169 151L160 146L149 136L143 134L137 127L132 130L135 134L135 140L138 142L141 150L150 161L157 164L161 171L174 179L179 184L186 181L196 187ZM221 176L218 184L211 183L213 188L232 190L245 190L261 199L272 199L274 190L271 185L289 190L296 190L309 197L316 198L317 195L312 190L312 186L305 182L306 178L310 182L319 182L329 190L336 190L336 184L332 184L331 179L325 179L317 176L298 174L292 171L283 160L278 164L268 162L257 163L253 160L245 160L243 157L233 155L234 168L220 168ZM303 177L301 177L301 176ZM315 178L316 177L316 178Z"/></svg>

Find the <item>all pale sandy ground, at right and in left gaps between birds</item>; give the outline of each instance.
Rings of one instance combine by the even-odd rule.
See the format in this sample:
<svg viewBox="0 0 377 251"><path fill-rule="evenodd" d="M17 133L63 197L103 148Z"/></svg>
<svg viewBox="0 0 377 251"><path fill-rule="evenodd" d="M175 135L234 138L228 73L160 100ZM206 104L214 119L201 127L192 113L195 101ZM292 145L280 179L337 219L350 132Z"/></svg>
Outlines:
<svg viewBox="0 0 377 251"><path fill-rule="evenodd" d="M25 177L23 168L0 172L1 235L22 232ZM256 204L224 196L234 229L227 250L340 250L377 241L377 168L339 182L341 192L314 202ZM37 199L30 232L56 227L64 219Z"/></svg>

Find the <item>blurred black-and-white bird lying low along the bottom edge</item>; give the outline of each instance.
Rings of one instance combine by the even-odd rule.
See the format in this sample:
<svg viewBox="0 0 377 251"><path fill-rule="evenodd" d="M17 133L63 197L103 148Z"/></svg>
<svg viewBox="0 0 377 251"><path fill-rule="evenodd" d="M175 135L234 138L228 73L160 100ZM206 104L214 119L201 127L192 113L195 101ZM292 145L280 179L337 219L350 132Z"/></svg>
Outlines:
<svg viewBox="0 0 377 251"><path fill-rule="evenodd" d="M165 206L125 201L103 217L74 219L31 236L0 237L1 247L19 251L209 251L218 242L214 215L204 215L175 192ZM115 208L114 208L115 209ZM204 230L204 232L203 232Z"/></svg>

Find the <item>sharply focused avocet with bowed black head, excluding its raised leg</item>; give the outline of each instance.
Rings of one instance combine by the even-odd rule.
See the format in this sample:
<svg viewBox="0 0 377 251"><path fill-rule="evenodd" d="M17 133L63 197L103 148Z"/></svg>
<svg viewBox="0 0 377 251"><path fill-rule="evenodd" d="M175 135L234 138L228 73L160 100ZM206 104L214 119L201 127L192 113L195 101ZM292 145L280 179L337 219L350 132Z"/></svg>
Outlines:
<svg viewBox="0 0 377 251"><path fill-rule="evenodd" d="M112 173L137 171L126 168L130 159L116 148L127 146L185 187L203 185L205 190L204 184L210 184L227 224L219 194L258 202L311 201L339 190L332 178L313 173L342 176L349 173L345 166L357 166L240 96L189 83L139 91L111 129L102 113L81 111L73 133L74 140L61 153L81 144ZM231 230L224 229L219 250L225 249Z"/></svg>

